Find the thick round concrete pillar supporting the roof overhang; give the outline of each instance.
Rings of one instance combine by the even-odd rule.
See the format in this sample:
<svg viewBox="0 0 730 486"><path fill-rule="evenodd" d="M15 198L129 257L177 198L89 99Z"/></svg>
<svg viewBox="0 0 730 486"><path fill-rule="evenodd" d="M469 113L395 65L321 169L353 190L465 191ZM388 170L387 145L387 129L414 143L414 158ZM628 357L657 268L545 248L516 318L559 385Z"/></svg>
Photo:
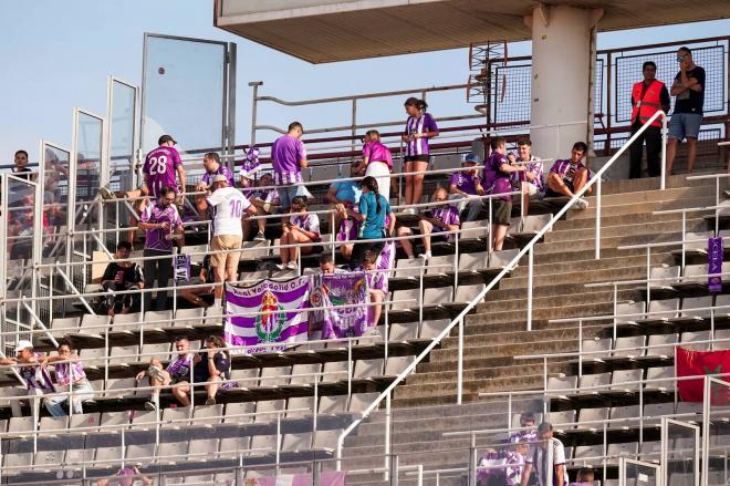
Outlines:
<svg viewBox="0 0 730 486"><path fill-rule="evenodd" d="M531 124L535 155L565 158L574 142L593 139L593 71L596 23L602 9L540 3L525 23L532 29ZM593 147L591 147L593 148Z"/></svg>

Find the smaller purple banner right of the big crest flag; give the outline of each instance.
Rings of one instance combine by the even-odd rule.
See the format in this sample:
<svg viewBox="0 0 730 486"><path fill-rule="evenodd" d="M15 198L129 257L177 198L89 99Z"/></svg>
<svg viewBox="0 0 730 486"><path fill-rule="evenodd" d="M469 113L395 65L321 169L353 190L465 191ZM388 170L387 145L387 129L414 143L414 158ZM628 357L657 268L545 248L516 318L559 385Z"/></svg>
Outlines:
<svg viewBox="0 0 730 486"><path fill-rule="evenodd" d="M310 325L322 327L322 339L364 335L368 331L367 308L344 307L369 302L363 272L326 273L312 278Z"/></svg>

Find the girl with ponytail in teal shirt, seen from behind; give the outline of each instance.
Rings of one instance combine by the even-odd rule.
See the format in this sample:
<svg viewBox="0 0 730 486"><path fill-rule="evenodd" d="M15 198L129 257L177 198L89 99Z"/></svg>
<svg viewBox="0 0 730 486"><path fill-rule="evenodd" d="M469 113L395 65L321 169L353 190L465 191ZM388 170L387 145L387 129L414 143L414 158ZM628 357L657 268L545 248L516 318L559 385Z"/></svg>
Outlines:
<svg viewBox="0 0 730 486"><path fill-rule="evenodd" d="M361 183L361 187L363 195L359 197L359 213L351 210L351 216L362 221L357 239L378 239L393 235L395 216L393 209L390 209L390 204L379 193L375 177L365 177ZM387 229L386 217L388 218ZM384 241L356 242L353 249L352 262L354 265L361 263L365 250L371 250L375 255L378 255L384 244Z"/></svg>

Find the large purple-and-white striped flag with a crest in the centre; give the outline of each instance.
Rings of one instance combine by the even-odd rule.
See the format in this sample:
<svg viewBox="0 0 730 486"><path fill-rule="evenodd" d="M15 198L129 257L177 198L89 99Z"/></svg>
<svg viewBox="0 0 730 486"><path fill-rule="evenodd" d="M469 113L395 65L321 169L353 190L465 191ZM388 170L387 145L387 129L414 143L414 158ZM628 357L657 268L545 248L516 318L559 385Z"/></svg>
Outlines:
<svg viewBox="0 0 730 486"><path fill-rule="evenodd" d="M310 277L288 281L262 280L250 287L226 283L225 337L230 345L255 347L257 352L282 351L285 342L305 341Z"/></svg>

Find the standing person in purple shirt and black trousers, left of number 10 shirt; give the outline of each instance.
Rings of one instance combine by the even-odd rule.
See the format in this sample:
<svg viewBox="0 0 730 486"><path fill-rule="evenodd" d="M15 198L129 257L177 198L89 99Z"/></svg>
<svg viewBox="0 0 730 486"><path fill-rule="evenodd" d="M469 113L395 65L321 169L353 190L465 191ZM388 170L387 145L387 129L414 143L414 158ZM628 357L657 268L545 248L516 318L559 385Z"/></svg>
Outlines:
<svg viewBox="0 0 730 486"><path fill-rule="evenodd" d="M182 238L182 220L175 207L175 189L163 187L159 199L148 203L142 211L142 220L137 226L145 231L145 257L171 257L173 239ZM160 287L167 287L173 277L173 259L158 258L144 260L145 289L153 289L155 280ZM145 292L145 311L150 310L152 296ZM167 291L157 292L155 310L164 310L167 303Z"/></svg>

